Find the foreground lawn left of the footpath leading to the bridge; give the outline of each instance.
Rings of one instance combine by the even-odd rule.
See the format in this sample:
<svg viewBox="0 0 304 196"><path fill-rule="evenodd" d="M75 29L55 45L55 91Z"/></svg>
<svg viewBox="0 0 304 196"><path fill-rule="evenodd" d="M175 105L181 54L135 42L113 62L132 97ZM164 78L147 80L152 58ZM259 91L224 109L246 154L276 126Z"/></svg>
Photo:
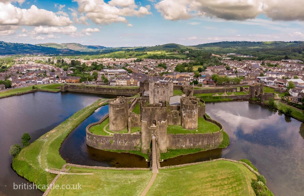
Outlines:
<svg viewBox="0 0 304 196"><path fill-rule="evenodd" d="M95 170L72 167L70 173L93 173L92 175L60 175L56 185L81 184L80 190L56 190L48 195L140 195L149 183L152 172Z"/></svg>

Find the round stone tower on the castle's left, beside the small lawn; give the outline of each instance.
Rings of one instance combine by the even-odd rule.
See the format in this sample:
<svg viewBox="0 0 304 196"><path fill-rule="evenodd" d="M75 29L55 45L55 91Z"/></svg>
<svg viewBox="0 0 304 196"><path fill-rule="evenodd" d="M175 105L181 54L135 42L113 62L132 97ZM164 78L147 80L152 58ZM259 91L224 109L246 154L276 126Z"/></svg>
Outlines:
<svg viewBox="0 0 304 196"><path fill-rule="evenodd" d="M109 130L120 131L128 126L129 102L126 97L109 101Z"/></svg>

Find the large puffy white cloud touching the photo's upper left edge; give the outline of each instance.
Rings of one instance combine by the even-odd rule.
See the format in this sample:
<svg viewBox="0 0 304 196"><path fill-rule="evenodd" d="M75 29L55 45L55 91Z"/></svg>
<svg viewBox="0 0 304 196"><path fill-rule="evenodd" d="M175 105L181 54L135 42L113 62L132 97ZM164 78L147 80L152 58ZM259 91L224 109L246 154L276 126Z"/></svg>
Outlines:
<svg viewBox="0 0 304 196"><path fill-rule="evenodd" d="M39 9L35 5L21 9L12 4L0 3L0 25L65 26L71 23L68 17L57 16L54 12Z"/></svg>

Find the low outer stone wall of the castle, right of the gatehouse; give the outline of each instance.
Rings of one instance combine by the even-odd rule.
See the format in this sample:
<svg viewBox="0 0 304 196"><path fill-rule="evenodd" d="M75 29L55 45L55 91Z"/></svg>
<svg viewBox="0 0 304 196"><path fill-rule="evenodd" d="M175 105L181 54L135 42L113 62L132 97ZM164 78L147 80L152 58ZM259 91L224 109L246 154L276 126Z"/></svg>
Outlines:
<svg viewBox="0 0 304 196"><path fill-rule="evenodd" d="M195 134L168 134L169 149L202 148L212 150L219 146L223 141L223 133L195 133Z"/></svg>

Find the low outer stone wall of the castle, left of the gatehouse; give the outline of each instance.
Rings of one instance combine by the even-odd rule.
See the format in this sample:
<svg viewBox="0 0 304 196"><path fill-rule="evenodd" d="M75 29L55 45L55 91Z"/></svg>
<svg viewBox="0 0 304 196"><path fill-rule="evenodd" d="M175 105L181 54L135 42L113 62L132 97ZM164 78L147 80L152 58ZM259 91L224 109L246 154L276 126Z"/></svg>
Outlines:
<svg viewBox="0 0 304 196"><path fill-rule="evenodd" d="M140 150L140 134L114 133L113 136L86 132L88 146L99 150Z"/></svg>

